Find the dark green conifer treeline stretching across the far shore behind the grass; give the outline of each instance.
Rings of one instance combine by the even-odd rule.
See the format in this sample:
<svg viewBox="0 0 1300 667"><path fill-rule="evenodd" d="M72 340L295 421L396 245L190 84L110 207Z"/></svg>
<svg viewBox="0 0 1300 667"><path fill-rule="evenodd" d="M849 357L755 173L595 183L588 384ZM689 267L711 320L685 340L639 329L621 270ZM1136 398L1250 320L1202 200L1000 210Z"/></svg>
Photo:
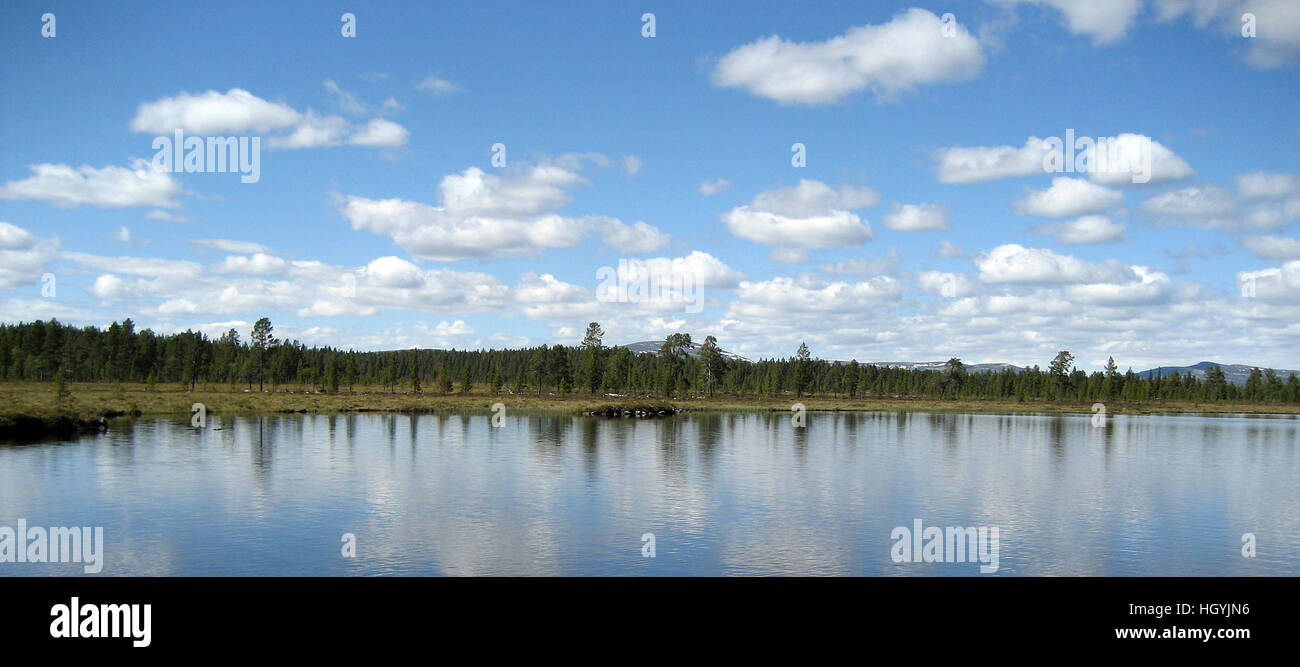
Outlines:
<svg viewBox="0 0 1300 667"><path fill-rule="evenodd" d="M351 391L380 386L416 393L558 393L649 397L923 397L1014 400L1234 400L1300 402L1300 378L1254 369L1245 386L1210 368L1204 380L1173 372L1150 378L1074 367L1067 351L1046 369L970 373L959 359L939 369L901 369L814 359L806 345L789 359L725 358L714 337L696 348L690 335L670 335L658 354L606 347L597 322L576 346L521 350L398 350L356 352L280 341L265 317L247 341L230 329L157 334L131 320L108 329L57 320L0 325L0 378L229 385L234 389ZM696 354L692 354L692 351Z"/></svg>

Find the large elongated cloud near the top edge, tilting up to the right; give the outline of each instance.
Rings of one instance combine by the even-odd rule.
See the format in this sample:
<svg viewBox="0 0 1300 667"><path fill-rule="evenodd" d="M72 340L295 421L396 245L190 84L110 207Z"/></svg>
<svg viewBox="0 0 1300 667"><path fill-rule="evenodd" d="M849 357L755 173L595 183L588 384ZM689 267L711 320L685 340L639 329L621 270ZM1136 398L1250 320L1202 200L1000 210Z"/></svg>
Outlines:
<svg viewBox="0 0 1300 667"><path fill-rule="evenodd" d="M953 30L944 35L945 27ZM781 104L832 104L871 90L890 96L916 86L965 81L984 68L980 43L965 26L945 26L924 9L881 25L849 29L826 42L771 35L723 56L712 70L719 87L744 88Z"/></svg>

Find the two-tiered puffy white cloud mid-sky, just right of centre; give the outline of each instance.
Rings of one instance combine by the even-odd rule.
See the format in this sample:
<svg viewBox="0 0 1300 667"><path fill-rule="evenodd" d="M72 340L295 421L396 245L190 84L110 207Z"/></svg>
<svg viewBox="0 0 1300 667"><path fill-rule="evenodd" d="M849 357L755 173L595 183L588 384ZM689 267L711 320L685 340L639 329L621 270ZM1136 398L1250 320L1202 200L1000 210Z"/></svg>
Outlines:
<svg viewBox="0 0 1300 667"><path fill-rule="evenodd" d="M732 234L755 243L805 250L853 247L871 241L875 233L852 209L879 202L880 196L867 187L836 190L802 179L793 187L764 190L722 220Z"/></svg>

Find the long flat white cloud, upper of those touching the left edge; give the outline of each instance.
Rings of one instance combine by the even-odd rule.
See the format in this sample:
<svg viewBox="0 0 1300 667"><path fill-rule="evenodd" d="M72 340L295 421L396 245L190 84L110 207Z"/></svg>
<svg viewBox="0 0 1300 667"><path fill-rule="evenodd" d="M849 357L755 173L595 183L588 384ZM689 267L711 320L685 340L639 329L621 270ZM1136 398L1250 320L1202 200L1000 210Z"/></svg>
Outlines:
<svg viewBox="0 0 1300 667"><path fill-rule="evenodd" d="M0 199L36 199L60 208L82 204L98 208L179 205L181 183L146 160L125 166L35 164L31 177L0 185Z"/></svg>

